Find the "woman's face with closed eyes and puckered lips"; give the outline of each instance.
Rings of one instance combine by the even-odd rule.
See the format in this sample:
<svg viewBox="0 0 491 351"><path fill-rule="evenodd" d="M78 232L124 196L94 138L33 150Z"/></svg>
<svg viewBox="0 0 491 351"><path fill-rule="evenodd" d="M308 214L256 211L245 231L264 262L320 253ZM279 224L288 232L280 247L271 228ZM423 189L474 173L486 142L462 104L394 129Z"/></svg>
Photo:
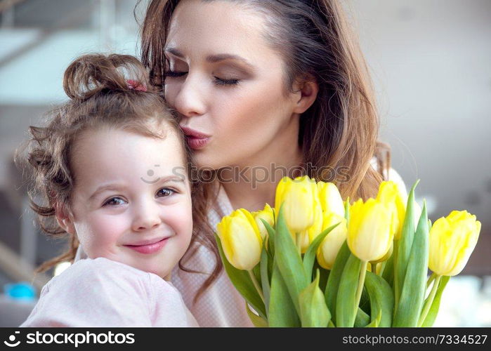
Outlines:
<svg viewBox="0 0 491 351"><path fill-rule="evenodd" d="M284 95L284 63L265 30L259 13L232 1L183 0L174 11L165 96L185 133L208 136L188 138L200 167L250 166L296 145L299 95Z"/></svg>

